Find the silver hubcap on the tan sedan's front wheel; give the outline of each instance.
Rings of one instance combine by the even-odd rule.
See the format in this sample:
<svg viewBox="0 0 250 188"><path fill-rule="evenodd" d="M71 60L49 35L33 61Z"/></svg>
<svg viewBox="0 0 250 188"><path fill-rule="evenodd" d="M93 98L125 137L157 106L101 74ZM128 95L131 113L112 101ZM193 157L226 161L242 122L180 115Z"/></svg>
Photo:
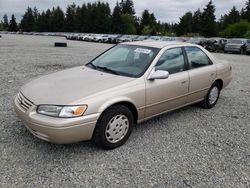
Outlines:
<svg viewBox="0 0 250 188"><path fill-rule="evenodd" d="M108 142L117 143L122 140L129 129L129 120L124 115L114 116L106 127L105 136Z"/></svg>

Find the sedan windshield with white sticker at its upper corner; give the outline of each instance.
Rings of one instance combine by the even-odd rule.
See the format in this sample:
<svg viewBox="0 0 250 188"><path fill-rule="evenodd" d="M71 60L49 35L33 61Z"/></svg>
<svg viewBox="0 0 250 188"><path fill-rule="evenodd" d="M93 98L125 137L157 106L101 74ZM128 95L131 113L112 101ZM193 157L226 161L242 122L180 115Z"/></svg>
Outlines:
<svg viewBox="0 0 250 188"><path fill-rule="evenodd" d="M140 77L158 52L158 48L119 44L86 66L111 74Z"/></svg>

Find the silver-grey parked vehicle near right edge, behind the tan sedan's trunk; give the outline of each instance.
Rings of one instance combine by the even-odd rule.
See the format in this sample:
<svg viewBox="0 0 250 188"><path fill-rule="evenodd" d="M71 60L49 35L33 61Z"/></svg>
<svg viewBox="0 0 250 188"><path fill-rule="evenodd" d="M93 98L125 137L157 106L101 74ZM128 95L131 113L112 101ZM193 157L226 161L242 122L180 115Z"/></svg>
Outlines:
<svg viewBox="0 0 250 188"><path fill-rule="evenodd" d="M224 53L246 53L247 49L247 39L230 39L228 40Z"/></svg>

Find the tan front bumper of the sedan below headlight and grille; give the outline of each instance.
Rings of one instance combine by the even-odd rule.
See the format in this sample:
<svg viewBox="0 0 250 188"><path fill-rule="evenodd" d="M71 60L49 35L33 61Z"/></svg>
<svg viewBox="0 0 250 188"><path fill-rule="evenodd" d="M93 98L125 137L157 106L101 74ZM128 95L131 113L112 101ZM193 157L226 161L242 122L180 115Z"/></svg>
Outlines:
<svg viewBox="0 0 250 188"><path fill-rule="evenodd" d="M96 113L77 118L49 117L36 113L35 105L24 110L17 97L14 98L14 108L25 127L35 137L57 144L90 140L100 115Z"/></svg>

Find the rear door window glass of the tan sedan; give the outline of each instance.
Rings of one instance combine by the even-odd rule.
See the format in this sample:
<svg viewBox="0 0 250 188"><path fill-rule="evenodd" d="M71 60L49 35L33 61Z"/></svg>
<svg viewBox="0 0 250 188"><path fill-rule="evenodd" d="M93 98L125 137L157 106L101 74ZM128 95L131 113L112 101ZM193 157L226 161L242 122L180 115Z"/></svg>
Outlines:
<svg viewBox="0 0 250 188"><path fill-rule="evenodd" d="M189 69L195 69L211 64L207 55L197 47L185 47Z"/></svg>

